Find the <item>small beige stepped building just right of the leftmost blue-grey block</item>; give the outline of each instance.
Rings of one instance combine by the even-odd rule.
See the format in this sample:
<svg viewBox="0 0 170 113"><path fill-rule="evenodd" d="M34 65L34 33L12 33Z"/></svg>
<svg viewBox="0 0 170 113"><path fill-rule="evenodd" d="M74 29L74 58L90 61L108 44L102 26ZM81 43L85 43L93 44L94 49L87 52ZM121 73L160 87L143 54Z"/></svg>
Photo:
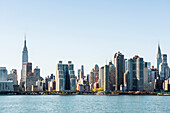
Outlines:
<svg viewBox="0 0 170 113"><path fill-rule="evenodd" d="M18 85L18 80L17 80L17 70L12 69L10 74L7 75L7 80L12 80L14 85Z"/></svg>

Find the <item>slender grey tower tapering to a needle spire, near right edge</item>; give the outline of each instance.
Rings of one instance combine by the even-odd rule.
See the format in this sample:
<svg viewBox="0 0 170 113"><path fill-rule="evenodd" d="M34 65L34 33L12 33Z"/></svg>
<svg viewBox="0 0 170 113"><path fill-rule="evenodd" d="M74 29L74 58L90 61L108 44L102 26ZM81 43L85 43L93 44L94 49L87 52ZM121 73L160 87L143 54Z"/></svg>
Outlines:
<svg viewBox="0 0 170 113"><path fill-rule="evenodd" d="M159 70L159 65L162 63L162 58L161 58L161 49L158 44L157 52L156 52L156 61L155 61L155 67Z"/></svg>

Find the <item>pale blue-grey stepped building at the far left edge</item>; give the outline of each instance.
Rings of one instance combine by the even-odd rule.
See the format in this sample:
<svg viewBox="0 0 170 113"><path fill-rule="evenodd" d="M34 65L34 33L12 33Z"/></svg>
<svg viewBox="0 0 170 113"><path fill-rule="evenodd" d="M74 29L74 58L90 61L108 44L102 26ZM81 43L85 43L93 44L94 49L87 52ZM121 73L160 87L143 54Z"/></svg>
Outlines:
<svg viewBox="0 0 170 113"><path fill-rule="evenodd" d="M13 91L13 81L7 81L6 67L0 67L0 91Z"/></svg>

